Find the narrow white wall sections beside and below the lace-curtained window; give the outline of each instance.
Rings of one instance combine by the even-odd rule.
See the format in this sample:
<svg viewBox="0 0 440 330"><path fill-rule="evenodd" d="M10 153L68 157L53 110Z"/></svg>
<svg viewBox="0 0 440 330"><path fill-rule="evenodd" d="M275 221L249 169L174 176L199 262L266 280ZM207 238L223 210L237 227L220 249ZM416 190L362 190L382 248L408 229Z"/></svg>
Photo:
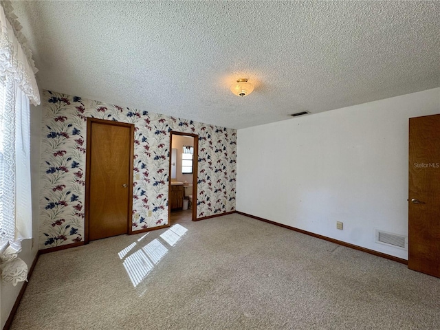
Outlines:
<svg viewBox="0 0 440 330"><path fill-rule="evenodd" d="M30 268L39 248L39 184L40 184L40 143L41 143L41 106L30 106L30 167L31 167L31 189L32 189L32 239L27 239L22 242L22 251L19 254L25 263ZM10 311L14 306L17 296L23 283L17 284L16 287L12 284L1 286L1 328L8 320Z"/></svg>

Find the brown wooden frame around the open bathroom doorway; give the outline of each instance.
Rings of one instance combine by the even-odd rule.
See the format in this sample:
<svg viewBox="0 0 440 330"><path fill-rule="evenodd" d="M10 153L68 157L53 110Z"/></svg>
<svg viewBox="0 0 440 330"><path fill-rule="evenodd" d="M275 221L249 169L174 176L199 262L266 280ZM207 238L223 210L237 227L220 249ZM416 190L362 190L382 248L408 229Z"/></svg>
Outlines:
<svg viewBox="0 0 440 330"><path fill-rule="evenodd" d="M193 133L184 133L179 131L170 131L170 157L168 170L168 226L170 226L171 204L170 204L170 190L171 190L171 151L173 150L173 135L190 136L194 139L194 155L192 156L192 208L191 220L197 221L197 177L199 175L199 135ZM176 168L177 171L177 168Z"/></svg>

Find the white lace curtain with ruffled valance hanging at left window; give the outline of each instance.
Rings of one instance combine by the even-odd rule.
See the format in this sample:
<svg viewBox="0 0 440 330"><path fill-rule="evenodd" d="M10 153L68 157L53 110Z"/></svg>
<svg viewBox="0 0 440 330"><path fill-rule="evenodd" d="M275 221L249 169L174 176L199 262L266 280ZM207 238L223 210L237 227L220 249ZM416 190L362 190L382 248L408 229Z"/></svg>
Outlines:
<svg viewBox="0 0 440 330"><path fill-rule="evenodd" d="M12 27L5 10L12 10L8 1L0 6L0 238L19 251L32 237L29 102L40 97L30 52L16 36L23 39L17 17L9 16Z"/></svg>

